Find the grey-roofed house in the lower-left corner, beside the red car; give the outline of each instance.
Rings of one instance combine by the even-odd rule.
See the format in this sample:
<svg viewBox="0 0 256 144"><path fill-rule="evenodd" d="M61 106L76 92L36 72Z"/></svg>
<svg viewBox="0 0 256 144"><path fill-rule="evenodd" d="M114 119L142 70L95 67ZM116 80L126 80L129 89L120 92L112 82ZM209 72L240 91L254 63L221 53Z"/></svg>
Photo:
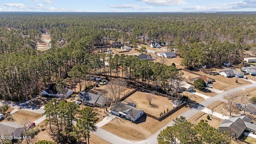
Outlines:
<svg viewBox="0 0 256 144"><path fill-rule="evenodd" d="M1 122L0 135L1 136L20 136L24 131L24 126L15 122Z"/></svg>

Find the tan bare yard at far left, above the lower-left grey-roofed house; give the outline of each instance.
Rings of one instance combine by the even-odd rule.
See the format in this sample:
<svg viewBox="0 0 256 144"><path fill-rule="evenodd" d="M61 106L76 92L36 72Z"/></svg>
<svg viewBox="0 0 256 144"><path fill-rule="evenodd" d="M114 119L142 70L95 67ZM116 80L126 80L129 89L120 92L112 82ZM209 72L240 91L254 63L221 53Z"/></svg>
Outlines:
<svg viewBox="0 0 256 144"><path fill-rule="evenodd" d="M42 114L38 114L35 112L29 112L26 110L18 110L14 114L11 115L14 118L13 122L16 122L18 124L29 124L30 122L33 122L34 120L37 120L38 118L42 117ZM7 121L6 119L2 120L1 122L10 122Z"/></svg>

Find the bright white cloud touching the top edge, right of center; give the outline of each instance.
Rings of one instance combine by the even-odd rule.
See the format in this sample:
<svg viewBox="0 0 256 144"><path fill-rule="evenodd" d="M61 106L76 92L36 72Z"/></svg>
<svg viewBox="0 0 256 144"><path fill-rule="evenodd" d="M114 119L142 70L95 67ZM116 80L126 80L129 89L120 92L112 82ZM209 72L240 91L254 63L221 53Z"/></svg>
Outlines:
<svg viewBox="0 0 256 144"><path fill-rule="evenodd" d="M152 6L174 6L188 4L185 0L137 0Z"/></svg>

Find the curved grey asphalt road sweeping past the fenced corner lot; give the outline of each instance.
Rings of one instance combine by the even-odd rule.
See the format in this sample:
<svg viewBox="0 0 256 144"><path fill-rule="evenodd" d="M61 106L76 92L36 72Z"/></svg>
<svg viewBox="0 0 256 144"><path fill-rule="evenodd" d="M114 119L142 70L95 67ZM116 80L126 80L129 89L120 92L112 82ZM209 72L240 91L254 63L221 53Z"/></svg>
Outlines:
<svg viewBox="0 0 256 144"><path fill-rule="evenodd" d="M203 102L200 102L199 104L197 104L193 108L190 108L189 110L187 110L180 116L184 116L184 117L186 117L186 119L189 119L192 116L194 116L197 112L199 112L200 110L207 107L208 105L224 98L226 96L226 94L228 94L229 92L239 92L241 90L246 90L248 88L254 88L254 87L256 87L256 83L240 86L238 88L233 88L231 90L221 92L215 96L212 96L211 98L204 100ZM180 117L180 116L178 116L178 117ZM141 140L141 141L125 140L125 139L120 138L119 136L116 136L106 130L103 130L102 128L99 128L99 127L98 127L97 131L93 132L93 133L112 144L157 144L158 142L157 142L156 138L157 138L158 134L160 133L160 131L165 129L167 126L172 126L173 123L174 123L173 121L169 122L166 126L162 127L160 130L158 130L158 132L156 132L155 134L153 134L146 140Z"/></svg>

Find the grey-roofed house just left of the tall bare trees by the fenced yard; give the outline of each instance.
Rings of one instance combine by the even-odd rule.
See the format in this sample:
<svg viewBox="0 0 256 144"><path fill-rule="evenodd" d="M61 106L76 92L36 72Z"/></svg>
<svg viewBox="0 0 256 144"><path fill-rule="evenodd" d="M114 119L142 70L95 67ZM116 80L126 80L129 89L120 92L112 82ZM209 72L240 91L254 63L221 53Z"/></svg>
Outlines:
<svg viewBox="0 0 256 144"><path fill-rule="evenodd" d="M85 105L94 107L100 106L102 104L104 101L104 96L100 94L92 94L89 92L80 92L77 99L82 101Z"/></svg>

